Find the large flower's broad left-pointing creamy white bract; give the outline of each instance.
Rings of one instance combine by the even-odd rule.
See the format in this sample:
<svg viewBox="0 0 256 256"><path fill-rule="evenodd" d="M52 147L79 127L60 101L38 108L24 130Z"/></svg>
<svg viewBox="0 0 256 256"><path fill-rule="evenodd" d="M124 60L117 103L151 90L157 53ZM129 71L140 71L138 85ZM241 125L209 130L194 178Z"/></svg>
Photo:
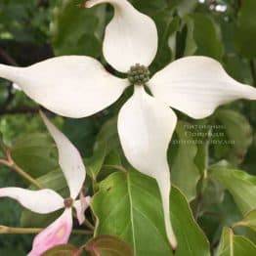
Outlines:
<svg viewBox="0 0 256 256"><path fill-rule="evenodd" d="M65 56L28 67L0 65L0 77L58 114L79 118L113 104L128 85L90 57Z"/></svg>

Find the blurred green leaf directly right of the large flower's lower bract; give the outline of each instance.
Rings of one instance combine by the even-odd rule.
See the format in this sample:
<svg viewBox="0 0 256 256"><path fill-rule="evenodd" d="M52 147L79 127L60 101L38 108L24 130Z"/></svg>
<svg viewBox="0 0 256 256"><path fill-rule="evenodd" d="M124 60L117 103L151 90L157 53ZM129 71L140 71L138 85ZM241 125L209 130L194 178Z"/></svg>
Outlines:
<svg viewBox="0 0 256 256"><path fill-rule="evenodd" d="M179 122L176 127L178 139L173 144L177 143L178 149L175 155L171 155L170 166L173 184L191 201L196 195L200 173L194 164L197 147L192 143L193 138L191 131L186 129L187 125L185 122Z"/></svg>

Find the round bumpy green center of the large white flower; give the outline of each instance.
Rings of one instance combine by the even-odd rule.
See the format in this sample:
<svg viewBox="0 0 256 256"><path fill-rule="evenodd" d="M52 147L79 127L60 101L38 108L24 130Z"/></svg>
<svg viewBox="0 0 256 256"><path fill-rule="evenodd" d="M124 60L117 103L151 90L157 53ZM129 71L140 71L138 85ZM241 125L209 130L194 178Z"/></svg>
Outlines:
<svg viewBox="0 0 256 256"><path fill-rule="evenodd" d="M145 85L149 82L149 68L143 64L135 64L131 66L128 72L128 79L131 84Z"/></svg>

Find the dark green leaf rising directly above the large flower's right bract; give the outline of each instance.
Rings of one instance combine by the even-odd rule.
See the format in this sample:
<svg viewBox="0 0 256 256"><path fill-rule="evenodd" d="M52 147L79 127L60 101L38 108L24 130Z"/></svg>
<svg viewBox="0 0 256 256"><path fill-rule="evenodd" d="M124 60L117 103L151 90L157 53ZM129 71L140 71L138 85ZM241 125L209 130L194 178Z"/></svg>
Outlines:
<svg viewBox="0 0 256 256"><path fill-rule="evenodd" d="M204 14L192 14L186 21L188 35L185 56L202 55L221 60L224 48L216 22Z"/></svg>

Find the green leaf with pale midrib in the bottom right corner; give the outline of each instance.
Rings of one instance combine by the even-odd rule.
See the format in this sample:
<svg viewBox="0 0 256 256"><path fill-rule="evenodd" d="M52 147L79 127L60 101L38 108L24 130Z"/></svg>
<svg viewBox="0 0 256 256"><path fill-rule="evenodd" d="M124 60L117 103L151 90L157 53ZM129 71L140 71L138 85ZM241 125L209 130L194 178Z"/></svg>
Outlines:
<svg viewBox="0 0 256 256"><path fill-rule="evenodd" d="M229 228L224 228L217 256L255 256L256 247L247 238L234 235Z"/></svg>

